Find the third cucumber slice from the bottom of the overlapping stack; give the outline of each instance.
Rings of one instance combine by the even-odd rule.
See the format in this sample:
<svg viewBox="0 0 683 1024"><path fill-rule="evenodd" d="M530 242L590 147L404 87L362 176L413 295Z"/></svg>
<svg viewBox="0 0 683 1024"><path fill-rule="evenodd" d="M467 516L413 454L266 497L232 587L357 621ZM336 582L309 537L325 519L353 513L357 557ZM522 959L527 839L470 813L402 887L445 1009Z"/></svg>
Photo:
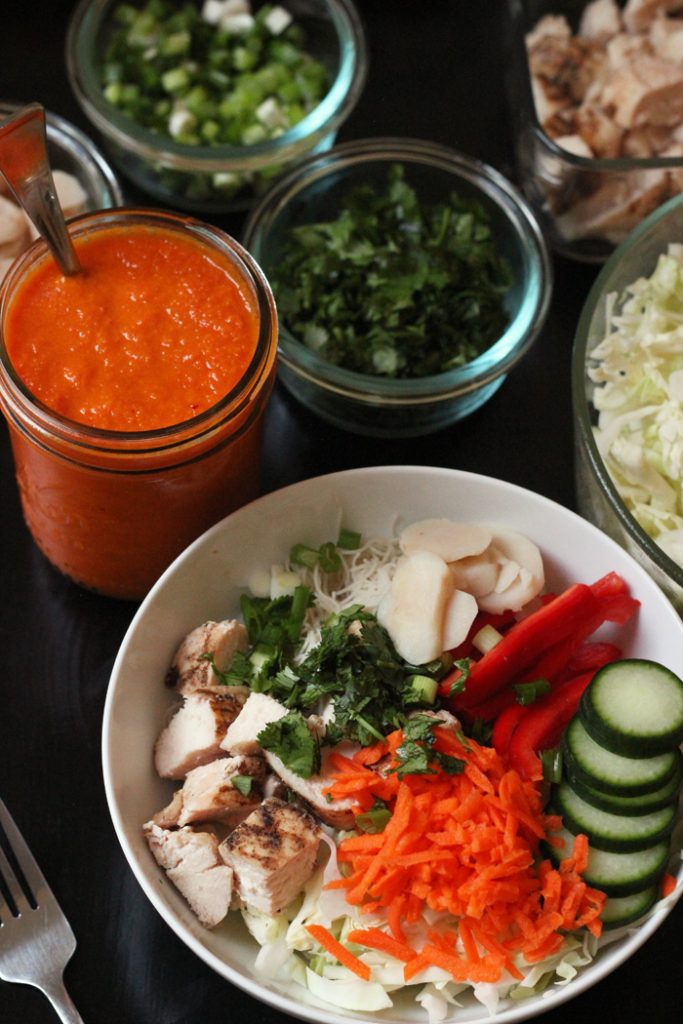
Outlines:
<svg viewBox="0 0 683 1024"><path fill-rule="evenodd" d="M675 804L630 817L601 811L582 800L566 780L556 787L553 803L570 833L588 836L591 849L624 853L646 850L668 837L676 821Z"/></svg>

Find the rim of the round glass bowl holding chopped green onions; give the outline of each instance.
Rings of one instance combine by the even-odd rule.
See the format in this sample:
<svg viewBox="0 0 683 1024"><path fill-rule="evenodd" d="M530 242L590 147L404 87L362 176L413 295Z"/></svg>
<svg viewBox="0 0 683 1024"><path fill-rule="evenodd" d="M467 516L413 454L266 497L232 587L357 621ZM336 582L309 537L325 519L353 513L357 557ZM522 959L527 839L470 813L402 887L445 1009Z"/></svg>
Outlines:
<svg viewBox="0 0 683 1024"><path fill-rule="evenodd" d="M177 170L209 171L251 170L293 159L336 131L355 106L368 78L368 44L360 15L353 0L321 0L329 9L330 19L340 44L340 65L335 80L321 102L289 131L273 139L251 145L189 145L167 138L136 124L106 102L94 81L79 60L79 50L87 47L94 63L95 34L116 0L80 0L67 30L66 61L71 87L93 125L110 141L141 159L160 162ZM93 6L99 9L92 12ZM85 37L86 18L94 20ZM229 163L229 167L226 165Z"/></svg>

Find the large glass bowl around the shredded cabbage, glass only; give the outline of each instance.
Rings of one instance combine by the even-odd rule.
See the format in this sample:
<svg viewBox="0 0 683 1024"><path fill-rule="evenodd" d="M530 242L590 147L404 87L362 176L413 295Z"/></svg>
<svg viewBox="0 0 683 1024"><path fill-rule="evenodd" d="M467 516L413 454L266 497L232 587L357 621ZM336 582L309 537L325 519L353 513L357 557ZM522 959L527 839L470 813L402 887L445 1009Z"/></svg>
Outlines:
<svg viewBox="0 0 683 1024"><path fill-rule="evenodd" d="M621 544L649 572L683 612L683 568L645 532L620 493L594 437L595 385L588 370L590 353L607 331L607 297L649 276L670 242L683 238L683 196L650 214L616 249L598 274L579 321L572 354L574 471L581 514Z"/></svg>

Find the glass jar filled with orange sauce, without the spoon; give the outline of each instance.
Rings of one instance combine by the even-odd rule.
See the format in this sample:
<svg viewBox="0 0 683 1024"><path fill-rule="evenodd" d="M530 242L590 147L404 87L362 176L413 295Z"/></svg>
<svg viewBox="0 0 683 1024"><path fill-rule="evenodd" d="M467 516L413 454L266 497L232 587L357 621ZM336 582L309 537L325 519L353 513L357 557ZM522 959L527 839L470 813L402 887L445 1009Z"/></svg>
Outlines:
<svg viewBox="0 0 683 1024"><path fill-rule="evenodd" d="M38 547L77 583L136 600L258 493L276 317L221 232L205 242L150 212L98 229L104 214L91 216L74 239L82 274L39 257L6 296L5 347L32 397L0 377L0 403Z"/></svg>

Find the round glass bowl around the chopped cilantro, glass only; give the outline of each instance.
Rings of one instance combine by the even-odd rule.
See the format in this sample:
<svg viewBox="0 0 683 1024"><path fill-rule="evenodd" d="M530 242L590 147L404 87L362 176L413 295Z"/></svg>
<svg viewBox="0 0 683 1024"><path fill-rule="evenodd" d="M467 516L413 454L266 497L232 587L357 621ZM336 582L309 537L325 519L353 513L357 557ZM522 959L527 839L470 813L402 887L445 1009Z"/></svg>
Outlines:
<svg viewBox="0 0 683 1024"><path fill-rule="evenodd" d="M293 226L337 216L354 186L386 187L389 168L400 164L405 180L430 204L457 191L477 199L490 217L513 285L506 296L504 334L472 361L428 377L397 379L345 370L280 330L280 377L323 419L378 437L426 434L468 416L502 385L508 371L538 336L550 301L552 270L543 234L524 200L498 171L431 142L367 139L311 158L281 179L245 226L244 244L269 280ZM273 286L275 300L279 286ZM282 293L281 293L282 295Z"/></svg>

